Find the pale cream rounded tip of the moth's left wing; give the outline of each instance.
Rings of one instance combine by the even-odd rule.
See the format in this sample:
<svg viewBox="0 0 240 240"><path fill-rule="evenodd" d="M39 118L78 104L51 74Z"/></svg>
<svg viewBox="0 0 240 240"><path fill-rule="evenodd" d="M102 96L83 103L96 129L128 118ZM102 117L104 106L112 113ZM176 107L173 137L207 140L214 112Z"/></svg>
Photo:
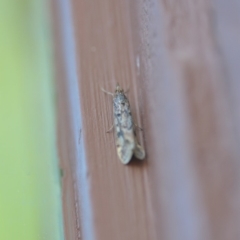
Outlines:
<svg viewBox="0 0 240 240"><path fill-rule="evenodd" d="M134 145L127 139L124 141L117 141L117 154L123 164L128 164L133 155Z"/></svg>

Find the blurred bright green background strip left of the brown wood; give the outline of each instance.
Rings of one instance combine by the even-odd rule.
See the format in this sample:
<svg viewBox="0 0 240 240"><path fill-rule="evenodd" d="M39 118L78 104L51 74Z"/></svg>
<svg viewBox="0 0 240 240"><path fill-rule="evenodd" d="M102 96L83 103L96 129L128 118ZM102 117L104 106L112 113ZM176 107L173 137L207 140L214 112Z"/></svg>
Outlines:
<svg viewBox="0 0 240 240"><path fill-rule="evenodd" d="M45 0L0 0L0 239L63 239Z"/></svg>

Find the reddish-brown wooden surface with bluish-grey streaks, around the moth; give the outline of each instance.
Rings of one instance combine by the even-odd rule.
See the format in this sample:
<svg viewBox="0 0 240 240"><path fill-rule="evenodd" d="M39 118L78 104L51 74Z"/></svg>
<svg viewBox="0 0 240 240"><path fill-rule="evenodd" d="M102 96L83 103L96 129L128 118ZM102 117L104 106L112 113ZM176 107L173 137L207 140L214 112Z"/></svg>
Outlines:
<svg viewBox="0 0 240 240"><path fill-rule="evenodd" d="M72 0L71 8L74 31L62 38L76 48L66 47L69 74L57 83L58 93L70 89L58 100L59 119L69 119L59 130L64 173L71 169L66 239L239 239L240 4ZM116 82L130 88L144 129L143 163L122 165L105 133L112 103L100 88Z"/></svg>

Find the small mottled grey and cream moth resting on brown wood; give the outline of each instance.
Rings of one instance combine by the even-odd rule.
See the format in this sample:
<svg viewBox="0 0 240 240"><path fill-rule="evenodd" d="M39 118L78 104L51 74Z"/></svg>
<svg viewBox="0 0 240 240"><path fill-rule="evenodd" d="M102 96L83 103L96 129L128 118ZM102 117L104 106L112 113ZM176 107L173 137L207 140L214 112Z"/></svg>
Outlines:
<svg viewBox="0 0 240 240"><path fill-rule="evenodd" d="M145 151L137 142L136 127L138 126L133 121L130 104L126 96L127 91L124 92L119 84L117 84L114 93L103 88L102 91L113 97L114 123L107 132L110 132L113 128L115 130L115 142L119 159L123 164L128 164L133 155L140 160L144 159Z"/></svg>

